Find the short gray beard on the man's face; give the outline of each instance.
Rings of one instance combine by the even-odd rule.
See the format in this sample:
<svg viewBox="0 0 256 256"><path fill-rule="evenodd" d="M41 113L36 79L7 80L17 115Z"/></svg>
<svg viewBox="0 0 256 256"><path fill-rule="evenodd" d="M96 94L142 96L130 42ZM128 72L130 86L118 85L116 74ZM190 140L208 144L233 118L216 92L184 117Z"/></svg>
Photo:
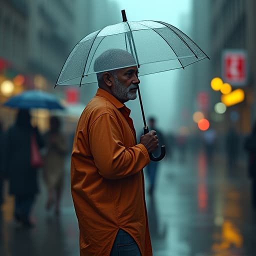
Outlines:
<svg viewBox="0 0 256 256"><path fill-rule="evenodd" d="M137 88L136 84L130 84L128 87L126 87L115 76L114 76L114 82L115 82L115 86L112 89L112 92L113 92L113 95L117 99L119 99L119 101L126 102L130 99L135 99L137 97L136 92L130 91L131 89Z"/></svg>

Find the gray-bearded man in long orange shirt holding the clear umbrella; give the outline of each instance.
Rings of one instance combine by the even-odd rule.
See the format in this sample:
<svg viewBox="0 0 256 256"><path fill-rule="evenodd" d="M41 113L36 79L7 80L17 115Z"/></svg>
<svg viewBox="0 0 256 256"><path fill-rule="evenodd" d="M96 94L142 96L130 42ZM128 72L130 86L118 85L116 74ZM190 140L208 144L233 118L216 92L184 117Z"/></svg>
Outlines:
<svg viewBox="0 0 256 256"><path fill-rule="evenodd" d="M107 70L104 63L114 70L98 71ZM125 50L109 49L96 58L94 70L99 88L79 118L71 155L80 255L151 256L142 168L158 140L149 131L136 143L124 105L136 98L136 61Z"/></svg>

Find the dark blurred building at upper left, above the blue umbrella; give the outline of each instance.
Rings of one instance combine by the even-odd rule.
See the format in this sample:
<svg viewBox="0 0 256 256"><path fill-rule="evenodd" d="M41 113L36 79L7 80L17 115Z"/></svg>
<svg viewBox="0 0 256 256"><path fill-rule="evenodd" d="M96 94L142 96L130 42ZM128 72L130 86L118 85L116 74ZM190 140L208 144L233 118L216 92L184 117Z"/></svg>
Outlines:
<svg viewBox="0 0 256 256"><path fill-rule="evenodd" d="M68 0L0 0L0 4L0 56L13 69L7 78L40 74L55 81L78 32L73 29L76 4ZM34 81L26 85L42 86Z"/></svg>

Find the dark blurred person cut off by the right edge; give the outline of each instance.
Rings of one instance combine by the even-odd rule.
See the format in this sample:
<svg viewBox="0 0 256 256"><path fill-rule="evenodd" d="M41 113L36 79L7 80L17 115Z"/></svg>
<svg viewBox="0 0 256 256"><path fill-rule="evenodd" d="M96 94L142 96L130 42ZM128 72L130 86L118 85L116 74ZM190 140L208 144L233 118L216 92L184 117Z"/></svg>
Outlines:
<svg viewBox="0 0 256 256"><path fill-rule="evenodd" d="M248 152L248 174L251 178L251 203L256 210L256 121L251 134L245 138L244 149Z"/></svg>

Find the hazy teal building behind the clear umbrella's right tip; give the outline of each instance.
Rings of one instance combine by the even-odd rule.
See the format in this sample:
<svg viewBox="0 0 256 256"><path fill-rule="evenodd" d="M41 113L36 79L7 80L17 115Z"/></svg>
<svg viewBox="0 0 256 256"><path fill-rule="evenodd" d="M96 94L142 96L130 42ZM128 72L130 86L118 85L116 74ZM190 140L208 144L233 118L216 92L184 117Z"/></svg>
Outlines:
<svg viewBox="0 0 256 256"><path fill-rule="evenodd" d="M193 1L190 15L181 17L182 31L185 32L208 56L210 56L208 0ZM209 86L210 61L204 59L179 70L177 86L177 105L179 109L176 120L179 132L194 135L199 132L193 114L201 112L208 118L210 109Z"/></svg>

